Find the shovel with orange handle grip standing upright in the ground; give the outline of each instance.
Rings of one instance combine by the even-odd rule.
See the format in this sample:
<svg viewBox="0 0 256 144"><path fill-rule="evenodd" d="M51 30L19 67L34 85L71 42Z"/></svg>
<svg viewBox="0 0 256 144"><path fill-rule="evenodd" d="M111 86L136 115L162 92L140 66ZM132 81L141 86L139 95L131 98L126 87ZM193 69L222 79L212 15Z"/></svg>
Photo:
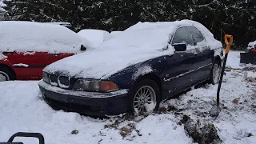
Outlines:
<svg viewBox="0 0 256 144"><path fill-rule="evenodd" d="M228 40L228 38L230 40ZM227 59L227 56L228 56L228 54L230 52L230 46L233 43L233 36L226 34L225 35L225 43L226 43L226 54L225 54L225 58L224 58L223 66L222 66L221 77L220 77L219 82L218 82L217 104L216 104L216 106L213 106L210 109L210 116L211 117L218 117L218 114L221 112L221 107L219 106L219 92L220 92L221 87L222 87L222 78L223 78L223 74L224 74L224 71L225 71L226 59Z"/></svg>

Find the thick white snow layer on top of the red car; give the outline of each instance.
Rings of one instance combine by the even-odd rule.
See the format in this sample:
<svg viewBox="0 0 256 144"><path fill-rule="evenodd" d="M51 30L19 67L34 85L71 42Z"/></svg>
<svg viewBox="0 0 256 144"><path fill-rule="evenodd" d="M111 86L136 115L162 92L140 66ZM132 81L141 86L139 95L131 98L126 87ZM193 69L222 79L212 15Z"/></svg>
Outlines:
<svg viewBox="0 0 256 144"><path fill-rule="evenodd" d="M64 26L41 22L0 22L0 52L78 53L91 43Z"/></svg>

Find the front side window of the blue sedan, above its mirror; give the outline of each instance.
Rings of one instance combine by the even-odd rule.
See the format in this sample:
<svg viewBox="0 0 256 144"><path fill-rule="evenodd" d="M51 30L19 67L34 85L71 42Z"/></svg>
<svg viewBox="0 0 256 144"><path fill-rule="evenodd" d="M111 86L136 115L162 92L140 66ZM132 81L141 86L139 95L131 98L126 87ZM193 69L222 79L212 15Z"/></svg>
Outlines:
<svg viewBox="0 0 256 144"><path fill-rule="evenodd" d="M186 45L193 45L192 36L188 27L180 27L176 30L172 45L175 43L186 43Z"/></svg>

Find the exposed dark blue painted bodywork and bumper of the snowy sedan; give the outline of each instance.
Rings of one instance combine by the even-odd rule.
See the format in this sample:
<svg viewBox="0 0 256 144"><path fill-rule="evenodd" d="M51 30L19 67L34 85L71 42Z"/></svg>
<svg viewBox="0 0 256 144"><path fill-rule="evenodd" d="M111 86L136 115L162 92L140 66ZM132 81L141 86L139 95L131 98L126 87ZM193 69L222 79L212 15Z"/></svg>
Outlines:
<svg viewBox="0 0 256 144"><path fill-rule="evenodd" d="M51 90L50 85L43 81L39 83L39 87L50 106L58 109L101 116L123 114L130 105L130 90L142 78L149 78L158 84L161 100L172 98L192 86L209 80L214 62L222 62L222 47L211 50L207 44L203 49L196 44L194 46L193 50L176 51L173 55L151 58L128 66L107 78L106 80L117 84L120 92L69 94L67 91L78 79L75 76L70 78L70 88L67 90ZM216 51L221 53L215 54ZM136 72L144 70L144 67L150 67L152 70L146 74L136 75Z"/></svg>

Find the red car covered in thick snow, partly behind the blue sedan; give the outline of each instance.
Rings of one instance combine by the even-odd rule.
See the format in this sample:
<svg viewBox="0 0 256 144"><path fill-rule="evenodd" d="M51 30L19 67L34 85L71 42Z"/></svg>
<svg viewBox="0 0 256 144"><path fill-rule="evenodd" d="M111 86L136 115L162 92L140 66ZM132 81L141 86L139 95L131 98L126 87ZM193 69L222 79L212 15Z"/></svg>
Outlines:
<svg viewBox="0 0 256 144"><path fill-rule="evenodd" d="M0 82L41 79L44 67L89 47L90 42L65 26L0 22Z"/></svg>

